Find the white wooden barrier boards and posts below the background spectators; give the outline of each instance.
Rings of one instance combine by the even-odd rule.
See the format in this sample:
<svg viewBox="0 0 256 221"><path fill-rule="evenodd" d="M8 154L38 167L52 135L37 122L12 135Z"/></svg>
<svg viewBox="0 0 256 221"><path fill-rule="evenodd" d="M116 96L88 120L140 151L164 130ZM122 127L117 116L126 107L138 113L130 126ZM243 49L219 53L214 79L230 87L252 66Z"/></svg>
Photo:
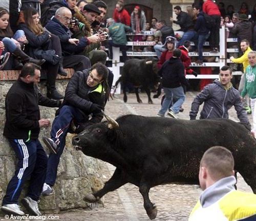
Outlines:
<svg viewBox="0 0 256 221"><path fill-rule="evenodd" d="M179 32L180 33L180 32ZM132 36L133 34L127 34L127 36ZM152 35L150 32L145 32L145 34L141 35ZM198 64L196 62L191 62L190 67L219 67L232 63L229 59L227 59L228 53L234 53L238 52L238 48L227 48L228 42L237 42L237 38L226 38L226 30L224 27L220 29L220 52L219 53L210 53L210 52L204 52L204 57L216 57L216 62L203 62L202 64ZM134 52L134 46L152 46L154 45L154 41L129 41L126 44L127 46L132 46L132 51L127 51L127 56L129 57L148 57L148 56L154 56L156 57L155 52ZM193 42L191 42L191 45L195 45ZM209 42L205 42L204 46L209 46ZM188 55L193 58L197 57L197 52L189 52ZM118 78L120 77L120 67L124 65L123 62L120 61L121 52L119 51L119 47L113 47L113 59L112 59L112 67L110 69L114 73L114 81L115 83ZM241 71L233 71L233 75L242 75ZM218 75L198 75L195 77L194 75L186 75L187 79L218 79ZM116 89L116 93L121 93L121 87L120 84L118 85Z"/></svg>

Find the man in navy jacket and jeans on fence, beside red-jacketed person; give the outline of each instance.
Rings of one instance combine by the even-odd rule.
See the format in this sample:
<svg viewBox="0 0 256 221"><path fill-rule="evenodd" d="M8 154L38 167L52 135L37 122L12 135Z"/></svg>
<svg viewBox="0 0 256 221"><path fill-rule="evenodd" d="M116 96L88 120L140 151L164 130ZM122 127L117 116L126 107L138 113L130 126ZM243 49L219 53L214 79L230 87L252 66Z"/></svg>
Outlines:
<svg viewBox="0 0 256 221"><path fill-rule="evenodd" d="M195 44L198 48L198 60L197 63L203 63L203 45L206 39L209 37L210 30L206 28L206 21L204 13L200 11L200 6L194 6L194 13L197 15L197 22L195 24L195 31L197 31L197 37L195 38Z"/></svg>

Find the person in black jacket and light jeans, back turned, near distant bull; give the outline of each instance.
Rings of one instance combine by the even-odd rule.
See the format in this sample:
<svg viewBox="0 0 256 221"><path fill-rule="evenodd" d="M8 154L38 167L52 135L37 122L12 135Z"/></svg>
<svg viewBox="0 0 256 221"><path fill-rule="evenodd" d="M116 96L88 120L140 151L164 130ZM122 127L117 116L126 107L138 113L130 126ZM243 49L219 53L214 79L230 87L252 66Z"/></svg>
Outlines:
<svg viewBox="0 0 256 221"><path fill-rule="evenodd" d="M164 117L165 112L173 101L173 97L176 97L177 101L170 108L168 115L173 118L178 118L177 114L180 111L181 105L185 101L182 84L187 85L187 81L185 78L185 68L180 57L181 51L179 49L175 49L173 51L173 56L167 60L159 70L159 75L162 77L162 86L165 98L157 116Z"/></svg>

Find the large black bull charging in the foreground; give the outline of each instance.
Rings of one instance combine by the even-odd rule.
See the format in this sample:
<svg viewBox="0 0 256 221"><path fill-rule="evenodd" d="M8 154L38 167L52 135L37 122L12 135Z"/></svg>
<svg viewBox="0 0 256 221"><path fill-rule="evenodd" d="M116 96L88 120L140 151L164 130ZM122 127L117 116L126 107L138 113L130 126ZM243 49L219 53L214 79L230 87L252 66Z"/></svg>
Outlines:
<svg viewBox="0 0 256 221"><path fill-rule="evenodd" d="M148 192L167 184L199 184L198 171L203 153L221 145L234 157L235 170L256 193L256 140L241 124L229 119L182 120L125 115L117 118L118 128L106 122L90 126L73 138L84 154L116 166L104 187L87 195L98 201L125 183L139 187L148 217L157 215Z"/></svg>

